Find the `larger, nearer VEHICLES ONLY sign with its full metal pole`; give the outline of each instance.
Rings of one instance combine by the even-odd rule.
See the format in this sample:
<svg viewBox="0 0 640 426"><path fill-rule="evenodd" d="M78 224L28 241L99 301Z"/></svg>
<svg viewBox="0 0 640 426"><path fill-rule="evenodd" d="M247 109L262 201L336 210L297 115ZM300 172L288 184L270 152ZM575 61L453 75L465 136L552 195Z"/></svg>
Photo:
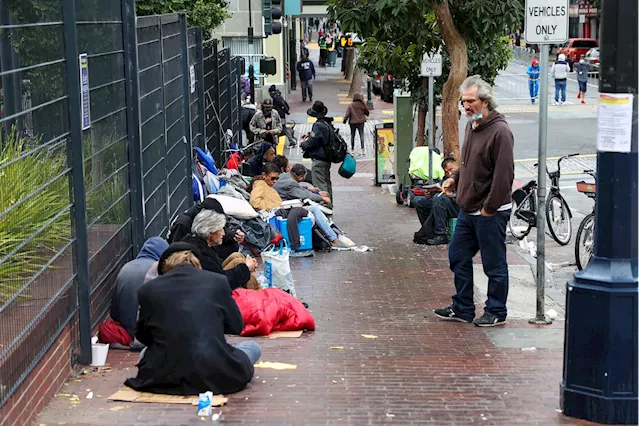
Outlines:
<svg viewBox="0 0 640 426"><path fill-rule="evenodd" d="M545 200L547 198L547 115L549 108L549 45L569 38L569 0L526 0L524 37L540 45L540 117L538 124L538 197L536 206L536 317L531 324L551 324L544 313Z"/></svg>

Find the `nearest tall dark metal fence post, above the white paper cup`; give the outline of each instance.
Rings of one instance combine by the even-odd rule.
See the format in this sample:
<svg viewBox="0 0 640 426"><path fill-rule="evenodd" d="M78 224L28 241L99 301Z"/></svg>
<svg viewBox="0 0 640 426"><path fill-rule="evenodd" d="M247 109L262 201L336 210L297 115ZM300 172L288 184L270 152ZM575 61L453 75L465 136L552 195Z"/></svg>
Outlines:
<svg viewBox="0 0 640 426"><path fill-rule="evenodd" d="M80 354L75 361L91 363L91 300L89 289L89 240L87 235L87 202L84 187L84 158L82 150L82 116L80 106L80 65L75 0L64 0L63 19L67 93L69 96L69 129L71 147L67 156L72 170L73 232L75 235L76 276L78 279L78 311L80 316ZM69 144L67 144L69 146ZM70 194L71 195L71 194Z"/></svg>

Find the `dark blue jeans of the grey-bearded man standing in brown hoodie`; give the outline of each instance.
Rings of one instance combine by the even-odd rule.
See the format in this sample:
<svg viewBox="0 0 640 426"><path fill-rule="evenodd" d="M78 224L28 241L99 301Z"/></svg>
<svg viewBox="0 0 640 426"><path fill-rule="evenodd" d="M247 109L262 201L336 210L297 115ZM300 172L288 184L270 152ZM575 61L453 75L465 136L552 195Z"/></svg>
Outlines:
<svg viewBox="0 0 640 426"><path fill-rule="evenodd" d="M493 216L473 216L460 212L453 239L449 243L449 264L454 273L456 294L452 308L461 318L475 316L473 303L473 257L480 251L482 267L489 278L484 312L498 318L507 317L509 271L505 245L507 222L511 211Z"/></svg>

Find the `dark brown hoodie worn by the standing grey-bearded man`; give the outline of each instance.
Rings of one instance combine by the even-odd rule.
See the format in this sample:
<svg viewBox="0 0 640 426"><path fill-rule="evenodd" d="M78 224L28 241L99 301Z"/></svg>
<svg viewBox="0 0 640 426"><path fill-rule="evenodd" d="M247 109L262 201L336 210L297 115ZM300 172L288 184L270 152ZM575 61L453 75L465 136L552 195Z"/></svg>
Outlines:
<svg viewBox="0 0 640 426"><path fill-rule="evenodd" d="M513 185L513 134L502 114L491 111L476 127L467 124L460 169L456 181L456 201L466 213L484 208L494 214L511 203Z"/></svg>

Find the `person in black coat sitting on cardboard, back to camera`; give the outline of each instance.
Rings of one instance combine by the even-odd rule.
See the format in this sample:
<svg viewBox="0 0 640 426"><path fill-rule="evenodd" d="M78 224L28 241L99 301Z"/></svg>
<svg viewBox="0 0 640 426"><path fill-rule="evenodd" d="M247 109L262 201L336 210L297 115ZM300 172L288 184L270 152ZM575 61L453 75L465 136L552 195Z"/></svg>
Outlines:
<svg viewBox="0 0 640 426"><path fill-rule="evenodd" d="M140 288L136 338L147 347L138 375L125 385L170 395L228 394L244 389L262 355L257 343L229 345L244 328L227 279L203 271L195 247L172 245L160 276Z"/></svg>

